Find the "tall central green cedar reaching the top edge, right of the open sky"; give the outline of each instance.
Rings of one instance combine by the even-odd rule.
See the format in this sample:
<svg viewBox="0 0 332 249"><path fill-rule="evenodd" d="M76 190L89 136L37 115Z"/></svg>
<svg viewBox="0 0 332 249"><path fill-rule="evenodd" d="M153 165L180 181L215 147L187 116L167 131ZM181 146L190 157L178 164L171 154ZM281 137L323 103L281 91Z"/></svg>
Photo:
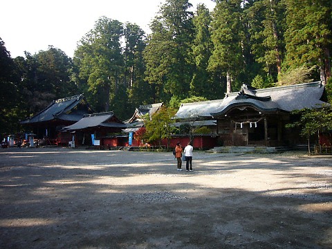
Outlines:
<svg viewBox="0 0 332 249"><path fill-rule="evenodd" d="M151 23L145 49L146 80L154 87L154 102L189 95L192 80L190 44L193 13L187 0L167 0Z"/></svg>

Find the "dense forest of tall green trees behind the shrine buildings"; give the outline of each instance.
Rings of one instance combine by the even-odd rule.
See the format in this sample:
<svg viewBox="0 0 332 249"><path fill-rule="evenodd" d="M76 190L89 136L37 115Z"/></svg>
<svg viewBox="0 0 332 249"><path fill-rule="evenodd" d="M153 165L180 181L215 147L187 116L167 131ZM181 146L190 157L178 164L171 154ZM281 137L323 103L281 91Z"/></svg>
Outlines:
<svg viewBox="0 0 332 249"><path fill-rule="evenodd" d="M100 17L73 58L53 46L12 58L0 38L0 133L80 93L125 120L140 104L220 99L243 83L332 85L331 0L216 0L212 11L167 0L150 29Z"/></svg>

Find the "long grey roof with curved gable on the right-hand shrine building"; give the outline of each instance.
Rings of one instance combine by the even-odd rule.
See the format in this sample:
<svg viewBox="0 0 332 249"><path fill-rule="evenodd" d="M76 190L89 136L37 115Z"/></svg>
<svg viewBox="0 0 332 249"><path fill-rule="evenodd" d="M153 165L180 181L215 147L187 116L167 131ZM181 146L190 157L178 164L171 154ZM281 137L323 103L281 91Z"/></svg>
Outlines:
<svg viewBox="0 0 332 249"><path fill-rule="evenodd" d="M261 112L294 111L317 108L322 101L324 86L320 82L254 89L243 84L241 91L229 93L223 100L181 104L177 118L219 116L233 107L251 106Z"/></svg>

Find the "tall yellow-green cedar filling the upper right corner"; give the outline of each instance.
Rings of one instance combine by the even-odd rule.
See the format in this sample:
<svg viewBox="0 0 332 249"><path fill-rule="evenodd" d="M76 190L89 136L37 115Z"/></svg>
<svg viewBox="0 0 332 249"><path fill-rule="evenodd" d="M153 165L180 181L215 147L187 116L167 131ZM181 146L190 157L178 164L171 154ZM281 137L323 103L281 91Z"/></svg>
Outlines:
<svg viewBox="0 0 332 249"><path fill-rule="evenodd" d="M332 1L286 0L286 67L317 66L320 80L331 77Z"/></svg>

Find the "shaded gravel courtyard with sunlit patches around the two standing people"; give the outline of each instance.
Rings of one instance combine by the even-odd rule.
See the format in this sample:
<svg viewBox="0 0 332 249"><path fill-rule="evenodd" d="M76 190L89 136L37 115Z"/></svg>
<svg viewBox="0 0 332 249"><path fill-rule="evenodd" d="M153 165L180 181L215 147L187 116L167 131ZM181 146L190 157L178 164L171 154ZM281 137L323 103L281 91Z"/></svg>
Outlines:
<svg viewBox="0 0 332 249"><path fill-rule="evenodd" d="M185 166L183 165L183 169ZM0 150L0 248L332 248L332 157Z"/></svg>

